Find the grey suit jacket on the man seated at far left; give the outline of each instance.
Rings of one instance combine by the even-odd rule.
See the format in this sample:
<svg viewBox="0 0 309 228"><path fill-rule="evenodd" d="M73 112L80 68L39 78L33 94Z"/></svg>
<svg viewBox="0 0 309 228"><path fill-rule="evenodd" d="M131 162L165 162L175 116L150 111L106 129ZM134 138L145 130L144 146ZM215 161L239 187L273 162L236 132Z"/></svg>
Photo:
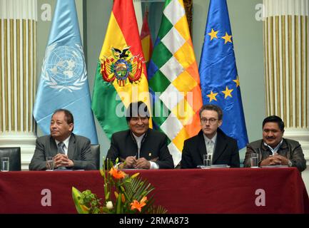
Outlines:
<svg viewBox="0 0 309 228"><path fill-rule="evenodd" d="M29 164L29 170L46 170L46 157L57 154L57 145L51 135L36 139L36 150ZM90 150L88 138L71 133L69 140L68 157L73 160L74 170L96 170L96 165Z"/></svg>

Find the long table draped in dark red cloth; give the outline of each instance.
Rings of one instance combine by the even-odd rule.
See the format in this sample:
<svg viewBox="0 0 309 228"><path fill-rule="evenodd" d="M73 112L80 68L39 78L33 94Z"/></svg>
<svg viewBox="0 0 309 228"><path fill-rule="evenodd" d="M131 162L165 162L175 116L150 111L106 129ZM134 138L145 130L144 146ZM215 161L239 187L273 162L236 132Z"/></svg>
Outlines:
<svg viewBox="0 0 309 228"><path fill-rule="evenodd" d="M136 172L168 213L309 213L295 167L126 170ZM0 172L0 213L76 213L72 187L103 198L98 170Z"/></svg>

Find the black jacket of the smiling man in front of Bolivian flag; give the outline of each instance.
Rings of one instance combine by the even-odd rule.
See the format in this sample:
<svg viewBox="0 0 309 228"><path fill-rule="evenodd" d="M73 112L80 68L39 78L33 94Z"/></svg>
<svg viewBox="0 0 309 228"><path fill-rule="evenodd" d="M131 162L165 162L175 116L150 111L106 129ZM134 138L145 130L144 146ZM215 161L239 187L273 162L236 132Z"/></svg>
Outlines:
<svg viewBox="0 0 309 228"><path fill-rule="evenodd" d="M115 164L116 158L124 162L126 157L138 154L138 147L131 130L123 130L111 136L111 147L106 159ZM173 169L173 157L168 151L167 137L156 130L148 129L141 141L140 157L156 162L160 169Z"/></svg>

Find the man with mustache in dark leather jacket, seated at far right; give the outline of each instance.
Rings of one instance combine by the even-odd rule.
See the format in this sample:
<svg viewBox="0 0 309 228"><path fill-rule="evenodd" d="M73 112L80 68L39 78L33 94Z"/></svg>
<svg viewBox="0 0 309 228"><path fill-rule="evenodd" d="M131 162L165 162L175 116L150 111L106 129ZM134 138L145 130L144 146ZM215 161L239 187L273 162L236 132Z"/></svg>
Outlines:
<svg viewBox="0 0 309 228"><path fill-rule="evenodd" d="M284 123L277 115L263 120L263 139L250 142L245 152L244 167L250 167L252 153L258 154L258 166L288 165L300 172L306 169L306 160L298 141L283 138Z"/></svg>

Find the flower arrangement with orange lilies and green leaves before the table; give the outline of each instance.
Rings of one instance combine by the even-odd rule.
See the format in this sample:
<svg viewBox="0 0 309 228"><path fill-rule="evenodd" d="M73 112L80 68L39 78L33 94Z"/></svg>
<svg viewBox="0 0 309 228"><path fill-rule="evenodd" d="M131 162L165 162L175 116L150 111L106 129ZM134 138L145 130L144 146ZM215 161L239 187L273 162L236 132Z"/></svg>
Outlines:
<svg viewBox="0 0 309 228"><path fill-rule="evenodd" d="M116 160L116 164L118 161ZM106 171L105 165L107 167ZM147 180L142 180L139 173L128 175L118 170L112 162L103 162L100 170L104 182L104 200L98 199L91 190L83 192L72 187L72 197L76 210L80 214L165 214L162 206L154 206L153 195L149 195L154 187ZM113 192L113 194L112 194Z"/></svg>

